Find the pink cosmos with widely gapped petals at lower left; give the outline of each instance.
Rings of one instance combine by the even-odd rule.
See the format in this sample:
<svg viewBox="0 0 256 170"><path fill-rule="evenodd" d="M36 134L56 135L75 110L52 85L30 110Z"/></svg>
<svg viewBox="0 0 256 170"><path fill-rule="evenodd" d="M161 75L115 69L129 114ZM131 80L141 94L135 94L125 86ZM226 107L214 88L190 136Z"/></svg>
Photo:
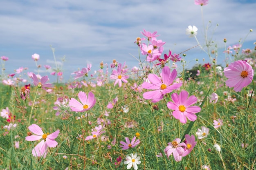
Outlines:
<svg viewBox="0 0 256 170"><path fill-rule="evenodd" d="M58 145L58 142L56 142L54 139L58 137L59 130L56 130L50 135L47 135L42 131L42 129L36 125L32 124L29 126L29 130L34 133L35 135L30 135L25 138L26 141L37 141L40 139L43 139L40 141L39 144L36 145L36 147L32 150L32 155L35 157L46 157L47 155L47 147L54 148Z"/></svg>

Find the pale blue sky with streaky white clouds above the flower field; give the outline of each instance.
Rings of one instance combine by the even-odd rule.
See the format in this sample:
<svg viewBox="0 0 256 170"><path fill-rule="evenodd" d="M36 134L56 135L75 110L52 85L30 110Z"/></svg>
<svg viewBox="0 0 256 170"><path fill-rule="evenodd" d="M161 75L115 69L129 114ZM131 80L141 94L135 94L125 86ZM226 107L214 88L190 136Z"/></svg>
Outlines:
<svg viewBox="0 0 256 170"><path fill-rule="evenodd" d="M220 48L219 63L225 56L223 38L232 46L240 39L243 42L253 29L243 49L254 49L255 9L255 0L209 0L203 6L204 25L211 21L208 38ZM166 42L164 53L169 49L180 53L197 45L195 38L185 34L189 25L198 27L197 38L202 46L205 44L201 6L194 0L1 0L0 24L0 56L9 57L6 73L14 73L21 66L35 72L34 53L40 55L38 64L54 67L52 45L57 61L65 55L63 72L67 79L88 63L92 70L97 70L101 61L110 64L113 59L126 61L130 68L138 66L132 55L139 55L134 42L143 37L143 29L157 31L157 39ZM208 60L199 47L186 54L188 62Z"/></svg>

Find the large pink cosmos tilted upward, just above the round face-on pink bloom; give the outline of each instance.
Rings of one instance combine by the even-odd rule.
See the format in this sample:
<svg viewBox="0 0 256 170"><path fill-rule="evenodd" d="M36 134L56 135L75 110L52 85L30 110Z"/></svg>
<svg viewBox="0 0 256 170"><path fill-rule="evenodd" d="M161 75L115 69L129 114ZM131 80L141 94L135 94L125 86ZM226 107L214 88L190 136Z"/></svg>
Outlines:
<svg viewBox="0 0 256 170"><path fill-rule="evenodd" d="M143 94L144 99L152 99L152 102L159 102L163 95L172 92L173 90L182 86L182 83L173 84L173 80L177 76L177 71L174 69L172 72L168 66L165 66L162 69L161 77L158 77L156 74L149 74L149 82L144 82L141 84L142 88L149 90Z"/></svg>

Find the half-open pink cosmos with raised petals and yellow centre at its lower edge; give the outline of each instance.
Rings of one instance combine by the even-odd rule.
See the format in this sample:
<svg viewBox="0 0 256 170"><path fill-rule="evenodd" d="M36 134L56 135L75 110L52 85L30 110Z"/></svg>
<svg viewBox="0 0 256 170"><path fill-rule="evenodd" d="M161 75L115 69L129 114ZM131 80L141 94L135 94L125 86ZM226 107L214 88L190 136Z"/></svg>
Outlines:
<svg viewBox="0 0 256 170"><path fill-rule="evenodd" d="M96 103L96 99L92 92L89 92L87 97L85 92L80 91L78 93L78 98L82 104L74 98L71 98L69 102L69 106L74 112L84 112L90 110Z"/></svg>

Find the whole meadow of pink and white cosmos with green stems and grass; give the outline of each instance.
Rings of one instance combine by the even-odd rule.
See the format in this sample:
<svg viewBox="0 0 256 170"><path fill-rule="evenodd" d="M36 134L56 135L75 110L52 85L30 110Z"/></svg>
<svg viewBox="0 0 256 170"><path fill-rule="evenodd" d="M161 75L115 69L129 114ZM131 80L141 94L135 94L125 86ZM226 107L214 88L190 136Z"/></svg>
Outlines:
<svg viewBox="0 0 256 170"><path fill-rule="evenodd" d="M198 42L196 26L184 30ZM184 52L164 53L157 31L143 29L138 66L88 64L66 83L57 64L56 83L40 67L6 75L0 57L0 170L255 170L256 52L223 39L225 51L198 42L211 62L188 70Z"/></svg>

